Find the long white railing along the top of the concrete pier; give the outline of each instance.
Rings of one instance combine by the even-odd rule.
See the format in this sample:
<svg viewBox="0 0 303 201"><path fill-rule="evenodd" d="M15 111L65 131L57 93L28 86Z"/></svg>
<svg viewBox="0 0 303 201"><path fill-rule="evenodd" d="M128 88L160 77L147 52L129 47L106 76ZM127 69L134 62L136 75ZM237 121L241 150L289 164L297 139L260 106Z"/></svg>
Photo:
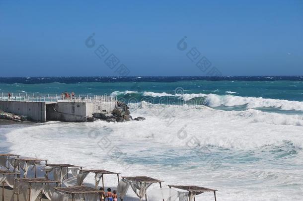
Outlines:
<svg viewBox="0 0 303 201"><path fill-rule="evenodd" d="M2 101L23 101L23 102L110 102L117 101L116 96L109 95L79 95L73 97L65 97L57 94L41 94L41 93L11 93L11 96L4 96L1 93L0 100Z"/></svg>

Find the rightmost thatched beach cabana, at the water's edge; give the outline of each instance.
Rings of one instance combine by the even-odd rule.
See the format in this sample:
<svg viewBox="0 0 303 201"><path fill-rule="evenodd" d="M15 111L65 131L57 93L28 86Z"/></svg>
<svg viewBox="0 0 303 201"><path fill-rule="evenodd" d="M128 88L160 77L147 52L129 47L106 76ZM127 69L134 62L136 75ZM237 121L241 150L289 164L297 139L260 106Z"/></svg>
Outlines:
<svg viewBox="0 0 303 201"><path fill-rule="evenodd" d="M205 192L214 192L214 198L215 201L217 201L216 191L218 190L215 189L209 189L199 186L176 186L176 185L168 185L168 187L187 191L187 192L179 192L178 195L179 201L196 201L195 196Z"/></svg>

